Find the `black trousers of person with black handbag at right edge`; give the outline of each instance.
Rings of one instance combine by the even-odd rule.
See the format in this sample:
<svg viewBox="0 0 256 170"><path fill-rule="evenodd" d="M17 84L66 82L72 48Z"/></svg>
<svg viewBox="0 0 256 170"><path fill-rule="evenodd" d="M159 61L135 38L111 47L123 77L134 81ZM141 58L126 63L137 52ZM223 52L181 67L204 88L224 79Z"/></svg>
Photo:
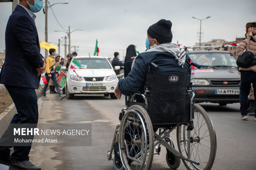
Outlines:
<svg viewBox="0 0 256 170"><path fill-rule="evenodd" d="M256 72L254 71L241 71L241 84L240 84L240 112L242 115L247 115L248 109L248 95L251 89L251 83L254 87L254 97L256 98ZM256 100L254 100L254 105L256 105ZM256 116L256 110L255 116Z"/></svg>

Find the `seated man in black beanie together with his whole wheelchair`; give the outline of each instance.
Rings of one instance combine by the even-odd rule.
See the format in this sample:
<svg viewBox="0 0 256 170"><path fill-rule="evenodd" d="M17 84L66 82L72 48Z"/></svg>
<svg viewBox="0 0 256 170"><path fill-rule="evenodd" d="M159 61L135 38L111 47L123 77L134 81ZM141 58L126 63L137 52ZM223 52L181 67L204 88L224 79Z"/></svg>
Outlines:
<svg viewBox="0 0 256 170"><path fill-rule="evenodd" d="M181 51L178 45L171 42L173 37L171 26L171 21L161 19L148 28L147 50L135 58L132 70L126 78L119 80L114 91L119 99L122 94L130 96L127 107L123 108L119 115L121 124L116 127L111 151L108 152L108 160L110 160L114 150L114 158L112 158L116 170L150 169L154 147L159 146L157 148L159 154L161 144L166 147L166 161L172 169L179 167L180 158L188 170L194 168L208 170L213 165L216 154L214 128L200 106L195 106L197 125L200 123L202 126L207 125L205 131L201 133L202 138L199 135L201 127L193 126L192 95L194 93L190 83L191 58L184 50ZM156 133L158 128L160 128L159 135ZM179 151L174 149L169 137L175 128L177 128ZM210 151L206 151L210 156L204 156L205 159L199 161L197 160L199 152L194 153L196 150L194 148L199 148L200 140L205 134L206 137L211 138L206 139L210 144L204 144L207 148L200 151L200 154L210 148ZM196 155L193 159L191 159L192 154Z"/></svg>

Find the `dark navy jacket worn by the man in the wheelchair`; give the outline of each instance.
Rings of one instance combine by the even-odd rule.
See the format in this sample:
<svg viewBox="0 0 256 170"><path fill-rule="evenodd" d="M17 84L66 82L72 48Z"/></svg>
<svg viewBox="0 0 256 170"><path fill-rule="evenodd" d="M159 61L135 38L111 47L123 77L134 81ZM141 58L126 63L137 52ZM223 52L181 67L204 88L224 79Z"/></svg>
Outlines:
<svg viewBox="0 0 256 170"><path fill-rule="evenodd" d="M132 95L140 91L145 84L147 72L150 63L154 62L159 66L158 71L161 72L180 72L188 70L191 58L186 55L186 61L183 65L178 65L178 61L171 53L167 52L145 52L139 54L135 59L135 65L125 79L118 82L118 88L123 95Z"/></svg>

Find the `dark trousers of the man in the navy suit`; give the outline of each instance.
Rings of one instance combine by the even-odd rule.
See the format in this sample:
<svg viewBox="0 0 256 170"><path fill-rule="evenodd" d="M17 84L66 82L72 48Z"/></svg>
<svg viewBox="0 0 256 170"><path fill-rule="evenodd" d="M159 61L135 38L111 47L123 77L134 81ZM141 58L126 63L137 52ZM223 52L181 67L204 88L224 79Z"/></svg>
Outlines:
<svg viewBox="0 0 256 170"><path fill-rule="evenodd" d="M11 123L38 123L37 95L34 88L25 88L5 85L15 104L18 114L15 114ZM8 129L6 130L8 131ZM6 139L1 139L6 140ZM9 154L9 147L0 147L0 155ZM11 159L15 162L28 161L29 147L14 147Z"/></svg>

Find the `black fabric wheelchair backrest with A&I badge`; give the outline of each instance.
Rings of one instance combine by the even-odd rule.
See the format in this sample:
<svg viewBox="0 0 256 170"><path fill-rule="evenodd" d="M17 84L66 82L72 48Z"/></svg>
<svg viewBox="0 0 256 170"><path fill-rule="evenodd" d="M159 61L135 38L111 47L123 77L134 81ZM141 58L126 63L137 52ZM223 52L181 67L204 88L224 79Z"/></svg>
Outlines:
<svg viewBox="0 0 256 170"><path fill-rule="evenodd" d="M190 121L190 94L187 86L190 83L190 70L182 72L160 72L150 69L145 89L147 112L153 126L164 127Z"/></svg>

